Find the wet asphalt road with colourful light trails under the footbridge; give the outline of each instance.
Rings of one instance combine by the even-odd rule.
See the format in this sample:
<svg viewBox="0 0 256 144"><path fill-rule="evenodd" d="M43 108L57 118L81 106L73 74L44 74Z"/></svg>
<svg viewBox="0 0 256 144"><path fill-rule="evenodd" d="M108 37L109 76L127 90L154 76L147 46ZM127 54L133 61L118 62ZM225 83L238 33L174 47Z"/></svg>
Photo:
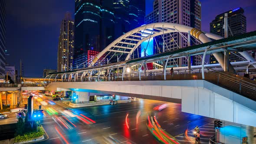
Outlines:
<svg viewBox="0 0 256 144"><path fill-rule="evenodd" d="M161 128L181 144L194 143L185 137L184 131L188 129L188 136L194 140L193 131L190 130L196 125L202 128L202 144L208 144L209 137L214 135L213 119L181 112L181 104L136 99L126 104L70 108L62 101L54 102L53 105L43 106L45 118L40 122L49 139L37 142L38 144L158 144L146 126L149 113L155 115ZM153 110L161 104L167 104L167 108L162 111ZM46 109L54 114L49 115ZM66 111L79 117L69 117L70 114L66 115ZM138 111L141 115L137 121Z"/></svg>

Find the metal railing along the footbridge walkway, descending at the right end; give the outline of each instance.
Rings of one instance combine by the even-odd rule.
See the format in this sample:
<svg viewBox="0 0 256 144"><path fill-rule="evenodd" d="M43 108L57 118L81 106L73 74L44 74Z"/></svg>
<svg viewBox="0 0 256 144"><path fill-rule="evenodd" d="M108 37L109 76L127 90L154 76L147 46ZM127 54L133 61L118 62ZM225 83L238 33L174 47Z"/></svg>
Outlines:
<svg viewBox="0 0 256 144"><path fill-rule="evenodd" d="M219 72L214 69L204 69L205 79L208 82L219 85L220 87L226 88L232 92L243 95L246 98L256 101L256 82L245 77L241 77L229 72ZM199 80L202 79L201 69L197 72L167 72L166 80ZM82 78L82 82L108 82L108 81L154 81L164 80L163 72L147 72L141 73L141 79L139 78L138 71L132 73L125 73L123 78L121 74L115 73L111 76L95 75L86 76ZM81 82L81 79L63 79L63 82Z"/></svg>

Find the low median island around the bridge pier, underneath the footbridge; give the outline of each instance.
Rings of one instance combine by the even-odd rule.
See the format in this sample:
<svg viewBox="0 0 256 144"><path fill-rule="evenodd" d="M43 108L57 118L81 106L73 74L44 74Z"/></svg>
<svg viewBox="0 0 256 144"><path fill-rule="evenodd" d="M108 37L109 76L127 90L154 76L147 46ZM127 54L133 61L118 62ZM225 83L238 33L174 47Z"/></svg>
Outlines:
<svg viewBox="0 0 256 144"><path fill-rule="evenodd" d="M131 102L131 99L119 99L115 100L117 104L122 103L129 103ZM80 102L69 102L69 106L72 108L81 108L81 107L89 107L89 106L96 106L96 105L110 105L110 101L96 101L96 102L90 102L90 101L80 101Z"/></svg>

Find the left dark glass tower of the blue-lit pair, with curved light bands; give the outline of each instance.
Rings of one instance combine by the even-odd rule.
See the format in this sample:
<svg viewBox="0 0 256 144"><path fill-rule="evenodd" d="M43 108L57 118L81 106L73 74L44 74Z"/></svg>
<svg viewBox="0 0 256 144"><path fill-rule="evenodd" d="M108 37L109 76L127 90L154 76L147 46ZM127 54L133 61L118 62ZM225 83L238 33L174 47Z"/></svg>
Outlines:
<svg viewBox="0 0 256 144"><path fill-rule="evenodd" d="M87 67L88 51L100 52L114 40L114 26L113 0L75 0L74 68Z"/></svg>

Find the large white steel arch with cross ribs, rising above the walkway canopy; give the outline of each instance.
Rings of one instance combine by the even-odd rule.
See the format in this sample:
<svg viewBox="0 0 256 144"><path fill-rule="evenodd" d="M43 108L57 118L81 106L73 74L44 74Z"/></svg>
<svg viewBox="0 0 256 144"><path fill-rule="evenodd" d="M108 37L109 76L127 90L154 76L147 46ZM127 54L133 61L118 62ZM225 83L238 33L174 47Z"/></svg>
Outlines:
<svg viewBox="0 0 256 144"><path fill-rule="evenodd" d="M106 56L110 52L120 52L122 54L128 54L125 60L128 60L135 49L141 45L142 42L153 38L155 36L160 36L168 33L189 33L194 36L194 38L200 40L202 43L210 42L211 39L220 39L222 37L217 36L212 33L203 33L199 29L192 28L190 26L184 26L176 23L151 23L144 26L140 26L136 29L125 33L120 36L110 45L108 45L102 52L98 53L95 58L92 60L88 67L91 67L97 62L101 57ZM211 39L210 39L211 38ZM213 56L216 57L217 61L224 69L224 56L222 52L213 53ZM104 58L104 59L105 59ZM230 72L234 72L233 67L230 65Z"/></svg>

